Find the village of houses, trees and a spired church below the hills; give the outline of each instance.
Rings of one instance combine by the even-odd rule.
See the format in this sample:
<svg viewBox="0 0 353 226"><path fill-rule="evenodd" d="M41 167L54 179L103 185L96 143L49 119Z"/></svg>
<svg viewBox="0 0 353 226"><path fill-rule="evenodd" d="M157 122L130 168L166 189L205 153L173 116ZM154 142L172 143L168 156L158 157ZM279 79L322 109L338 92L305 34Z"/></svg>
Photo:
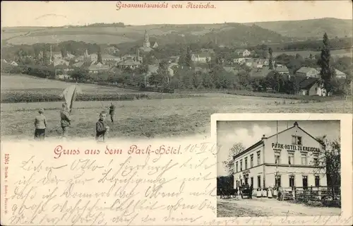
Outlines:
<svg viewBox="0 0 353 226"><path fill-rule="evenodd" d="M217 38L215 39L215 44L217 44ZM191 51L188 47L184 56L175 55L167 56L163 59L157 59L154 52L157 52L158 49L160 49L160 46L157 42L150 41L148 31L145 30L144 40L143 43L140 44L140 47L131 48L133 49L133 52L135 52L134 54L131 53L131 50L129 51L129 54L121 54L116 46L110 44L105 45L105 47L100 47L97 52L88 52L88 49L85 49L85 52L82 55L76 56L71 54L71 52L66 51L66 49L61 49L60 52L53 51L53 47L50 45L49 49L46 49L46 51L40 51L35 55L18 54L16 60L1 59L1 68L3 71L8 67L11 67L12 69L23 68L28 66L26 62L32 62L31 64L33 64L34 61L34 64L40 64L41 66L47 66L49 69L52 69L52 71L54 71L54 78L59 80L70 81L77 79L79 76L73 76L73 71L81 71L81 74L83 73L82 71L89 73L92 81L104 81L104 76L102 76L102 74L105 74L107 78L107 75L109 77L109 74L116 75L125 73L124 78L116 78L115 80L110 79L110 81L117 84L125 79L126 81L123 81L123 83L129 83L128 77L136 78L136 76L140 76L140 82L132 85L139 87L142 85L143 88L153 85L155 87L174 86L174 88L190 88L191 86L191 88L208 88L206 87L207 85L203 84L184 84L184 87L180 87L180 85L173 85L172 83L174 81L174 84L180 84L180 80L185 79L180 77L185 77L186 74L194 74L194 76L197 77L196 73L210 73L210 71L213 71L210 69L210 64L215 62L215 64L222 66L223 72L238 77L240 80L239 83L241 83L241 89L244 87L246 88L246 85L251 85L252 91L318 96L332 94L332 91L327 94L323 88L323 84L320 83L321 67L316 64L316 61L319 58L318 56L312 56L310 54L309 57L303 58L299 54L296 54L295 57L287 54L277 54L277 57L273 57L272 49L267 49L267 46L262 44L258 45L258 49L252 50L231 49L232 57L236 57L229 59L229 56L224 57L225 54L222 52L222 44L219 44L218 47L220 48L217 50L217 54L215 53L215 49L212 48L201 48L196 49L197 51ZM229 52L229 49L227 49L227 51ZM301 61L302 66L299 64L298 67L298 64L295 63L296 66L293 69L288 69L284 64L286 63L285 60L281 61L282 56L284 56L284 58L292 57L289 59L290 61L286 59L287 64L292 64L292 61ZM146 58L148 58L148 60ZM183 59L180 60L181 58ZM187 62L188 60L189 62ZM331 73L333 73L333 77L337 81L347 83L346 73L335 68L332 68L332 70ZM156 75L158 75L160 71L163 71L164 73L162 77L167 79L157 78ZM177 78L177 76L174 76L176 73L183 75ZM244 76L246 78L244 78ZM197 78L191 78L191 80L192 79L194 81L197 80ZM205 79L202 79L203 82L201 83L205 83ZM241 81L244 79L247 81ZM228 83L232 78L225 80L226 81L223 83ZM287 84L286 81L292 81L292 85ZM213 88L220 89L234 88L234 86L237 85L215 84L213 86ZM291 88L289 88L289 86ZM295 89L293 88L294 86Z"/></svg>

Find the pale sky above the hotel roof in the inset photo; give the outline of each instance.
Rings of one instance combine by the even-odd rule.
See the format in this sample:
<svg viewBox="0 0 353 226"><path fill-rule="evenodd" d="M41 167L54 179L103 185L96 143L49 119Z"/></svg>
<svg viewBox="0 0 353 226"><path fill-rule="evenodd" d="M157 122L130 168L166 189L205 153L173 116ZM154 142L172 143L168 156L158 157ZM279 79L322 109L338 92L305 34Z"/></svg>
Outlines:
<svg viewBox="0 0 353 226"><path fill-rule="evenodd" d="M295 121L278 121L278 132L294 125ZM340 121L297 121L299 127L313 137L326 135L329 141L340 137ZM217 162L227 160L229 149L234 143L249 148L261 141L261 137L277 133L277 121L217 121ZM217 175L227 175L222 163L217 164Z"/></svg>

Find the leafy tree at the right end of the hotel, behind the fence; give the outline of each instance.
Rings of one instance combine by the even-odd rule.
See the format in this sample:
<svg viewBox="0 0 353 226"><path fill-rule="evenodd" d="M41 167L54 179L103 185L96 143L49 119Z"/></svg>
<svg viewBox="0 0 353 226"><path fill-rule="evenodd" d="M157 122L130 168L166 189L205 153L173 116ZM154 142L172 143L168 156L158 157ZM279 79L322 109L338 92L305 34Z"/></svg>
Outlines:
<svg viewBox="0 0 353 226"><path fill-rule="evenodd" d="M337 194L338 187L341 184L341 144L340 138L334 141L328 141L327 136L322 136L316 138L322 148L318 153L318 159L316 160L317 165L323 166L321 169L316 169L314 173L325 173L328 179L328 186L330 186L330 191L335 200L335 195Z"/></svg>

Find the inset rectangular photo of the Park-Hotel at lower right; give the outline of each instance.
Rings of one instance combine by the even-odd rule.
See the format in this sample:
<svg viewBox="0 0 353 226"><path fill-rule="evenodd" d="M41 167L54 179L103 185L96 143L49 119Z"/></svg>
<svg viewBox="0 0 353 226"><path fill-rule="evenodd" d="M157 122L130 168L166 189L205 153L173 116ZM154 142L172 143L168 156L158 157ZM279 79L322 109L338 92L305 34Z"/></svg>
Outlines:
<svg viewBox="0 0 353 226"><path fill-rule="evenodd" d="M341 214L340 121L217 121L217 217Z"/></svg>

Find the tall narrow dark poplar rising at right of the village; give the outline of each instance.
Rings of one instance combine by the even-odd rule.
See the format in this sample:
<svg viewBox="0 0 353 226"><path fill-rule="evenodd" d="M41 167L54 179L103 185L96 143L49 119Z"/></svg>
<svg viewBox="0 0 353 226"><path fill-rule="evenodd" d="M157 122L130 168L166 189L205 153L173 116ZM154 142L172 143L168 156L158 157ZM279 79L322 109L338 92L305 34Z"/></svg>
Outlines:
<svg viewBox="0 0 353 226"><path fill-rule="evenodd" d="M330 93L332 73L330 71L330 47L328 46L328 35L326 33L323 35L323 48L321 49L321 59L318 61L318 64L321 66L320 75L323 87L327 93Z"/></svg>

